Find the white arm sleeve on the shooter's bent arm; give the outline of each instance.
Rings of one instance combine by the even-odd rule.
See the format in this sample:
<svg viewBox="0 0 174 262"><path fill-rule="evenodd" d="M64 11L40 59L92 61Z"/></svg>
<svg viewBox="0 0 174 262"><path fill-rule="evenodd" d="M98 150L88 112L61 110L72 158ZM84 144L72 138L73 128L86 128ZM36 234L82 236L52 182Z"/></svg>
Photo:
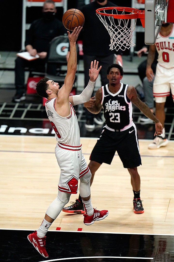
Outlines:
<svg viewBox="0 0 174 262"><path fill-rule="evenodd" d="M85 102L88 102L91 98L92 92L94 90L95 82L89 80L86 88L81 92L80 95L73 96L73 103L75 105L79 105Z"/></svg>

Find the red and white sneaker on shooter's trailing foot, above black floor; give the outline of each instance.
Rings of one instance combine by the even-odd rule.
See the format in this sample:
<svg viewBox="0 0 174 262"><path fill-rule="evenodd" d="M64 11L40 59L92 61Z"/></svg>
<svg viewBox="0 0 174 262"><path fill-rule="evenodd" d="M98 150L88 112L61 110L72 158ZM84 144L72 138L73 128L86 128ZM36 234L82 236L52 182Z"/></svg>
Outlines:
<svg viewBox="0 0 174 262"><path fill-rule="evenodd" d="M44 257L44 258L48 258L48 254L46 252L45 249L45 241L46 241L46 237L43 238L38 238L37 236L37 231L35 230L33 233L29 234L27 236L29 242L31 242L33 244L33 246L35 247L35 249Z"/></svg>

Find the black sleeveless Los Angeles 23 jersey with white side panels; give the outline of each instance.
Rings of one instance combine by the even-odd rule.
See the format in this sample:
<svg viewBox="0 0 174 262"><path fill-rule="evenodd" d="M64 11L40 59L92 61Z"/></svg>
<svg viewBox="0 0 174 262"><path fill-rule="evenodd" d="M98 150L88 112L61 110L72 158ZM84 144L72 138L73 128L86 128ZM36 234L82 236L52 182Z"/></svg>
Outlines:
<svg viewBox="0 0 174 262"><path fill-rule="evenodd" d="M126 96L127 88L128 85L121 83L119 91L112 94L108 85L102 86L101 105L109 128L123 131L133 123L132 102Z"/></svg>

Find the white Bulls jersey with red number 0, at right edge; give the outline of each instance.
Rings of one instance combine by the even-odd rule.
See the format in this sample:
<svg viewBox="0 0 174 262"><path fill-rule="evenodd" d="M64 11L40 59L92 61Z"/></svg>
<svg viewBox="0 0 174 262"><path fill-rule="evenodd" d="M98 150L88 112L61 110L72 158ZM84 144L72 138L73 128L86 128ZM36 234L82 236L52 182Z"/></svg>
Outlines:
<svg viewBox="0 0 174 262"><path fill-rule="evenodd" d="M158 64L167 69L174 67L174 25L170 35L157 36L155 46L158 52Z"/></svg>

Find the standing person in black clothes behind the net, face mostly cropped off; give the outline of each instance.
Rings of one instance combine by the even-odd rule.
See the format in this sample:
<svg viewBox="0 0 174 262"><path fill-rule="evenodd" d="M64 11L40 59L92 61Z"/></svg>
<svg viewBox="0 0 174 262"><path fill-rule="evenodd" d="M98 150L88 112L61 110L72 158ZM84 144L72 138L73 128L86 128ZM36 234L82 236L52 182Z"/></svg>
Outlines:
<svg viewBox="0 0 174 262"><path fill-rule="evenodd" d="M106 8L116 6L107 0L95 0L91 3L82 7L81 11L85 17L85 23L83 30L79 35L79 40L83 42L83 61L84 61L84 73L85 73L85 86L88 83L89 78L89 66L91 61L97 60L99 64L102 65L100 70L101 85L106 85L108 83L106 72L110 64L114 62L114 53L117 54L116 63L119 61L120 64L123 64L122 61L122 52L121 51L111 51L109 48L110 45L110 35L107 30L104 28L104 25L101 23L100 19L97 17L95 10L98 8ZM90 113L85 108L86 113L86 124L85 127L87 130L94 130L95 124L103 125L103 120L101 118L101 113L94 115Z"/></svg>

